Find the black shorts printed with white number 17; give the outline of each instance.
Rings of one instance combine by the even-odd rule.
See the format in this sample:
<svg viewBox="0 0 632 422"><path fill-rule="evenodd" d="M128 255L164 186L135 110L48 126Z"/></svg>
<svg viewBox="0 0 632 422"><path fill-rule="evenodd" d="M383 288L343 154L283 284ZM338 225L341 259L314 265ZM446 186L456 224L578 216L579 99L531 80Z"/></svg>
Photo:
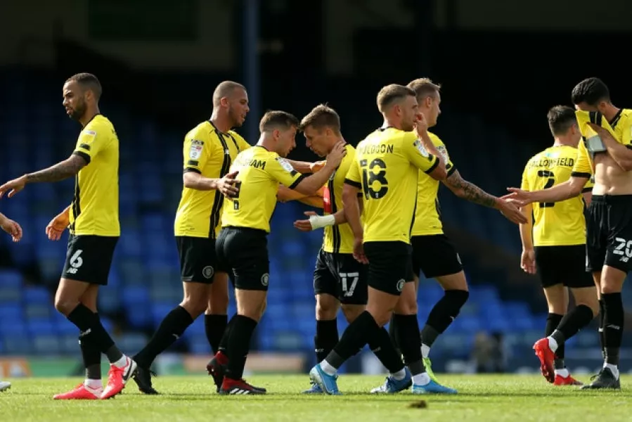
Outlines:
<svg viewBox="0 0 632 422"><path fill-rule="evenodd" d="M320 250L314 269L314 293L328 294L344 305L366 305L368 265L350 253Z"/></svg>

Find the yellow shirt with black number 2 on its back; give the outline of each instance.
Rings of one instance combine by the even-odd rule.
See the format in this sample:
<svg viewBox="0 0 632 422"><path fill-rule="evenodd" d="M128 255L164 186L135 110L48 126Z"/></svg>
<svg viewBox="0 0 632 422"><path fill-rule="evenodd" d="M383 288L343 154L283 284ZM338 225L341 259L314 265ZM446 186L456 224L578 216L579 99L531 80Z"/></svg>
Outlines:
<svg viewBox="0 0 632 422"><path fill-rule="evenodd" d="M579 151L572 146L552 146L531 157L522 172L525 191L540 191L570 179ZM584 192L591 191L588 181ZM533 236L535 246L583 245L586 243L586 220L583 197L557 203L534 203Z"/></svg>

